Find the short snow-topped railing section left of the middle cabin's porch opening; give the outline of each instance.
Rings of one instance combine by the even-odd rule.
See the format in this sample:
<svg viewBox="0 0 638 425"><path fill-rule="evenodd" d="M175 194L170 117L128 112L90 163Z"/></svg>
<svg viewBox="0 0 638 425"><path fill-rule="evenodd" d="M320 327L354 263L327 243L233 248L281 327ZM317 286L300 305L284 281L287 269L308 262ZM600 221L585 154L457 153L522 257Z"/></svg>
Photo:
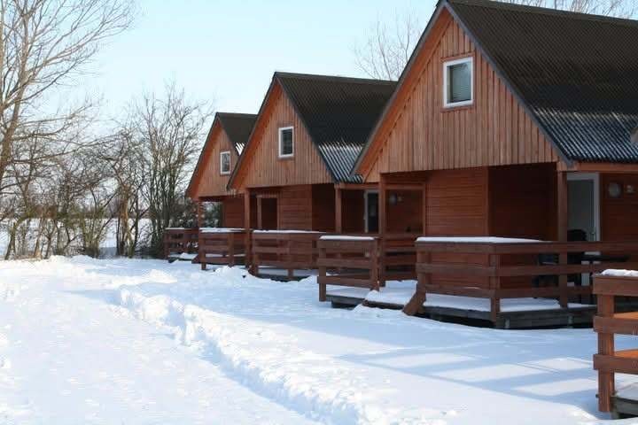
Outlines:
<svg viewBox="0 0 638 425"><path fill-rule="evenodd" d="M202 270L206 265L245 264L246 232L242 228L215 228L199 230L199 263Z"/></svg>

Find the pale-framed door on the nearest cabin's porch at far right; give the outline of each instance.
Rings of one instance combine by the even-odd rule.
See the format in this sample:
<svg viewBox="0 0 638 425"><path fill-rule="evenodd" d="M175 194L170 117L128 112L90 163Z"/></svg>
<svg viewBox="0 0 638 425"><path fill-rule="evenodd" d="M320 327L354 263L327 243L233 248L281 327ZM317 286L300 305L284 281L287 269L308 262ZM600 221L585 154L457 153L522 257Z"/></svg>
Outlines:
<svg viewBox="0 0 638 425"><path fill-rule="evenodd" d="M595 173L569 174L569 229L583 230L587 241L600 240L599 176Z"/></svg>

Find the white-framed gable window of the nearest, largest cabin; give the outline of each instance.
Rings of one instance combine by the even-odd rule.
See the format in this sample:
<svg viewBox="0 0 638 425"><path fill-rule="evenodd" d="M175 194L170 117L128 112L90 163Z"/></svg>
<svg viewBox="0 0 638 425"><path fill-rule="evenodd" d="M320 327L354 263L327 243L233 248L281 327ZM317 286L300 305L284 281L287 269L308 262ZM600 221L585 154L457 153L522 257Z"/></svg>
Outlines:
<svg viewBox="0 0 638 425"><path fill-rule="evenodd" d="M446 108L472 104L474 60L461 58L443 64L443 105Z"/></svg>

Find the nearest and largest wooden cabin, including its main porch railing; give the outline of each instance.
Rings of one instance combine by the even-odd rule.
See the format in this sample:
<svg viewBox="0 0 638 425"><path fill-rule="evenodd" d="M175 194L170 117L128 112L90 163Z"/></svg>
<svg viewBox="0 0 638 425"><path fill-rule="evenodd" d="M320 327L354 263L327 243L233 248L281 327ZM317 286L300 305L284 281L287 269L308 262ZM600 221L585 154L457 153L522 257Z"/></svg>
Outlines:
<svg viewBox="0 0 638 425"><path fill-rule="evenodd" d="M423 311L427 293L489 298L478 317L510 327L502 299L556 297L566 310L605 261L638 267L638 43L628 40L636 21L439 2L353 171L378 185L382 239L398 223L426 236L406 313ZM594 309L538 313L523 326L591 322Z"/></svg>

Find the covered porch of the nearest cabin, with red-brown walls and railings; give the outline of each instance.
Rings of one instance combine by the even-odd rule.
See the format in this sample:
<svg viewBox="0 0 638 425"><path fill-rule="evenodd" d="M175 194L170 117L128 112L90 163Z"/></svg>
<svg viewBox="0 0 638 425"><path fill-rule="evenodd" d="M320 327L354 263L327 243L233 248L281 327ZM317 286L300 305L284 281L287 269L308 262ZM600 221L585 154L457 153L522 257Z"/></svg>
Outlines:
<svg viewBox="0 0 638 425"><path fill-rule="evenodd" d="M503 328L591 323L590 276L638 267L637 185L638 167L595 164L381 174L379 240L391 227L423 230L414 244L418 283L401 302L388 303L384 289L380 298L369 297L367 290L378 285L339 280L345 263L331 258L346 243L326 241L325 250L336 254L320 257L326 268L320 298L335 305L389 304L408 314L445 312ZM432 305L428 294L442 305ZM467 298L484 298L489 308L476 310ZM511 320L509 300L532 301L518 312L526 324ZM551 309L547 300L555 302Z"/></svg>

